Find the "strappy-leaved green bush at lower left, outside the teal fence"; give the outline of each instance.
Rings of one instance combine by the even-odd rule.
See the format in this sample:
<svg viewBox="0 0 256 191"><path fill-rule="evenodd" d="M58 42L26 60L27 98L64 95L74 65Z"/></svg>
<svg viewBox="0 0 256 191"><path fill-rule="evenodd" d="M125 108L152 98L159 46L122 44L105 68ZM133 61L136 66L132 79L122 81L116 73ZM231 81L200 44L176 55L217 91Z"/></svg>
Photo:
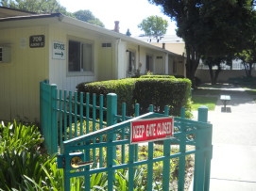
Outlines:
<svg viewBox="0 0 256 191"><path fill-rule="evenodd" d="M56 158L42 152L42 143L36 126L0 124L0 190L50 190Z"/></svg>

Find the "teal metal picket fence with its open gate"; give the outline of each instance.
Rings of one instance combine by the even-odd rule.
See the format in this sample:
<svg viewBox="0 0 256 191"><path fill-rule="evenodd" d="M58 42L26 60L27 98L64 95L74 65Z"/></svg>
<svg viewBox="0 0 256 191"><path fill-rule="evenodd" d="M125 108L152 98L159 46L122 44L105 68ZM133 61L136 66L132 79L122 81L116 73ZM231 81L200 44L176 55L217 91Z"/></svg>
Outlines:
<svg viewBox="0 0 256 191"><path fill-rule="evenodd" d="M106 107L105 107L106 105ZM57 90L41 83L41 121L45 146L58 152L65 190L185 190L188 174L193 190L209 190L212 159L212 124L208 109L198 109L198 121L174 118L174 136L158 142L130 144L130 123L138 119L166 118L149 112L134 117L117 114L117 96L90 96ZM106 122L105 122L106 121ZM161 152L162 151L162 152ZM188 164L195 163L192 172ZM174 179L176 177L176 179Z"/></svg>

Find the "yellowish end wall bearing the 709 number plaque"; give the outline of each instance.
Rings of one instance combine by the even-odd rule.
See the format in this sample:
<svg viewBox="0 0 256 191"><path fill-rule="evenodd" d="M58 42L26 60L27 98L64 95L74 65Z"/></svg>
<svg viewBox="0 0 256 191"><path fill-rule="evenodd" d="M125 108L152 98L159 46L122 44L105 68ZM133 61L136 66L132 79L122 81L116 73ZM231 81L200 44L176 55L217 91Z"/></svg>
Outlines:
<svg viewBox="0 0 256 191"><path fill-rule="evenodd" d="M47 27L0 30L0 45L10 47L10 62L0 63L0 119L39 119L39 83L47 78L48 47L30 48L29 37L44 35Z"/></svg>

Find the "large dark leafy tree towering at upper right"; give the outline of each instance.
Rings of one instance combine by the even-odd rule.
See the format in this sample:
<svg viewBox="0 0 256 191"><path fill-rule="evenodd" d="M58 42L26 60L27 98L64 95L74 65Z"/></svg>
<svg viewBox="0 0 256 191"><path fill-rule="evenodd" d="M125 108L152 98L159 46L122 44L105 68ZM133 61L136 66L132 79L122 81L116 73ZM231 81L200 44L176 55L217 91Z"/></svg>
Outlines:
<svg viewBox="0 0 256 191"><path fill-rule="evenodd" d="M162 6L163 13L177 22L177 35L185 41L187 77L194 88L196 69L202 56L212 66L216 60L233 56L244 46L241 41L247 38L244 31L250 18L251 0L148 2Z"/></svg>

